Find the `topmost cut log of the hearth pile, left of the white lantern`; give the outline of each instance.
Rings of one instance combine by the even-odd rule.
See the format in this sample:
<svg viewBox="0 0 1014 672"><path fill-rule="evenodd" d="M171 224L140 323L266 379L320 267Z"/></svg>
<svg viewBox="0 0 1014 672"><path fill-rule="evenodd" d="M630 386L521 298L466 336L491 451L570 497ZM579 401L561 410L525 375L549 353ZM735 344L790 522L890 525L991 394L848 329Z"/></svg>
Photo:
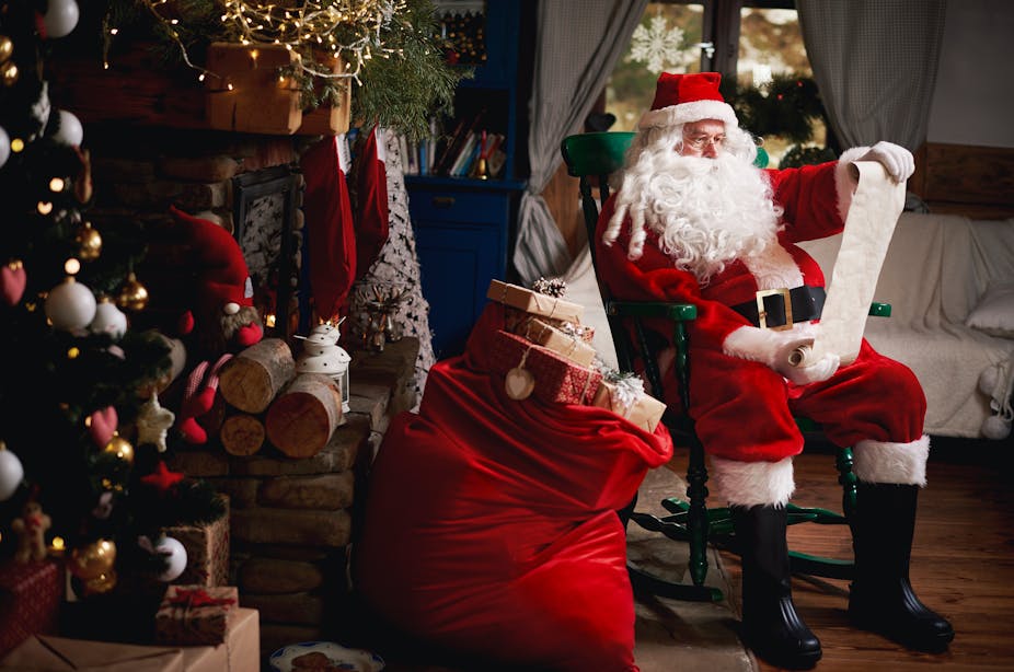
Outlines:
<svg viewBox="0 0 1014 672"><path fill-rule="evenodd" d="M265 338L230 359L219 374L226 402L244 413L263 413L296 376L292 350L280 338Z"/></svg>

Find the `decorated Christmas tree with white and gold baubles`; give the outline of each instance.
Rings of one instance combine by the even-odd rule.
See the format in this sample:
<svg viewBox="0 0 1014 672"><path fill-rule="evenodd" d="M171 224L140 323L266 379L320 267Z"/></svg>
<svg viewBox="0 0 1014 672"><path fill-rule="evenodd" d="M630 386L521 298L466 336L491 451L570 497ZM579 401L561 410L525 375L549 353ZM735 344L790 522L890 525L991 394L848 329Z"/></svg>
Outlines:
<svg viewBox="0 0 1014 672"><path fill-rule="evenodd" d="M186 552L166 528L224 502L166 467L170 340L131 328L145 231L89 222L84 129L49 103L46 56L78 18L74 0L0 0L0 560L62 555L89 598L171 581Z"/></svg>

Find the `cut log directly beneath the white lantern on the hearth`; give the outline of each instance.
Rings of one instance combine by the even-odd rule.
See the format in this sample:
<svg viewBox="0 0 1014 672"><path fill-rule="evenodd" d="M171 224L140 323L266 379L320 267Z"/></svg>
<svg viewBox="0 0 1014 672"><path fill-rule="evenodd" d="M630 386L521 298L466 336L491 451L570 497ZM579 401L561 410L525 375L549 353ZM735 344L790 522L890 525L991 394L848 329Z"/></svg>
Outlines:
<svg viewBox="0 0 1014 672"><path fill-rule="evenodd" d="M312 457L344 421L338 383L323 373L300 373L267 409L267 439L289 457Z"/></svg>

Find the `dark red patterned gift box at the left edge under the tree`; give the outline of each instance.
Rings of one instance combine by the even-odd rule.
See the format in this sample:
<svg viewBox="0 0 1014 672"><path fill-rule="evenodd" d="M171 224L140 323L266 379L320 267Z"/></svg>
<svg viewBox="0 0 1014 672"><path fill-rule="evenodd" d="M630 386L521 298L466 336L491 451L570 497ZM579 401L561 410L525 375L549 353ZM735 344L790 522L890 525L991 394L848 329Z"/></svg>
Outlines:
<svg viewBox="0 0 1014 672"><path fill-rule="evenodd" d="M35 634L57 632L64 572L53 560L0 565L0 656Z"/></svg>

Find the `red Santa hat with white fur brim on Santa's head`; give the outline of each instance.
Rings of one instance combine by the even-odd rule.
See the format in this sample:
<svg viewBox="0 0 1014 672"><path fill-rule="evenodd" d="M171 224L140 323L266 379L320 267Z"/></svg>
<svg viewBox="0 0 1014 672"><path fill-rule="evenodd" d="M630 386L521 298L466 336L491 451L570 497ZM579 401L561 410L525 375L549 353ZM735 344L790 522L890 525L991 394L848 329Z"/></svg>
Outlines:
<svg viewBox="0 0 1014 672"><path fill-rule="evenodd" d="M738 126L736 112L718 92L721 81L717 72L662 72L655 86L652 109L644 113L638 127L642 130L666 128L701 119L718 119Z"/></svg>

